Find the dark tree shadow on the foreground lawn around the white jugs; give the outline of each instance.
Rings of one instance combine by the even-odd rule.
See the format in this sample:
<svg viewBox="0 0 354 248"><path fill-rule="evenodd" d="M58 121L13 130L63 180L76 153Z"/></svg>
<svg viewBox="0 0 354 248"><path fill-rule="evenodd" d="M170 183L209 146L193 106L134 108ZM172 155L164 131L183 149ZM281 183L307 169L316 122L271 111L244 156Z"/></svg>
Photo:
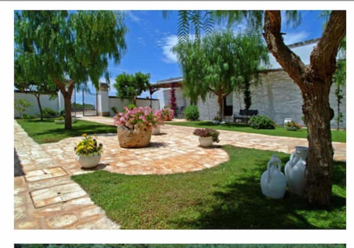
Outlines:
<svg viewBox="0 0 354 248"><path fill-rule="evenodd" d="M341 208L346 206L346 198L333 195L328 209L309 206L306 200L288 190L283 199L270 199L261 192L259 180L263 171L259 168L259 173L252 176L238 177L227 185L213 185L216 188L212 193L215 203L210 208L205 208L205 201L201 199L194 203L199 211L198 218L186 220L181 217L171 223L195 229L318 229L308 221L318 218L320 222L330 223L333 229L346 228L345 223L333 219L330 214L343 211ZM337 180L345 178L345 169L336 168L334 174L333 182L341 184Z"/></svg>

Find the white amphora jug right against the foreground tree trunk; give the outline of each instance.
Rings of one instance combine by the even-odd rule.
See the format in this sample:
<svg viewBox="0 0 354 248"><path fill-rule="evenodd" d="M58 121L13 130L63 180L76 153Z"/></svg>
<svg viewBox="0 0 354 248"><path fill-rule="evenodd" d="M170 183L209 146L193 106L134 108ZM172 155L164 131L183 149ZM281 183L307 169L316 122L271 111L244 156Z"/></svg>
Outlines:
<svg viewBox="0 0 354 248"><path fill-rule="evenodd" d="M305 189L305 170L308 147L296 147L290 155L290 160L285 165L285 176L289 190L297 195L302 195Z"/></svg>

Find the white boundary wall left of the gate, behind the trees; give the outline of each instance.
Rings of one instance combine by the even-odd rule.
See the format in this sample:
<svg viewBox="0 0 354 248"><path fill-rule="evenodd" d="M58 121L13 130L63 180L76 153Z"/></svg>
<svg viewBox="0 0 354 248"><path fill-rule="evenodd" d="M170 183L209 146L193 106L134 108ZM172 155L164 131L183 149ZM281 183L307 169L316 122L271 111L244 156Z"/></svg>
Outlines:
<svg viewBox="0 0 354 248"><path fill-rule="evenodd" d="M37 102L37 99L34 95L29 94L29 93L15 92L15 101L18 99L23 99L28 102L32 102L32 104L33 104L33 106L28 108L28 110L25 111L24 113L34 114L36 117L40 116L38 102ZM40 100L41 100L42 109L51 108L51 109L55 110L56 112L59 112L58 98L56 98L54 100L50 100L49 95L41 95ZM20 113L17 110L15 110L15 117L16 118L20 117Z"/></svg>

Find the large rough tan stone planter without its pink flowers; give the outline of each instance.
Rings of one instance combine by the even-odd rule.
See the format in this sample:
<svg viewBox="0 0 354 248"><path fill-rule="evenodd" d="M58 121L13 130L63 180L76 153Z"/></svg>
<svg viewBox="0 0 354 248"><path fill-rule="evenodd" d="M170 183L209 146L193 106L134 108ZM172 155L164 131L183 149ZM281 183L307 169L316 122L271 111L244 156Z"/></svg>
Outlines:
<svg viewBox="0 0 354 248"><path fill-rule="evenodd" d="M133 130L118 126L118 141L121 147L145 147L150 144L151 128L145 125L135 125Z"/></svg>

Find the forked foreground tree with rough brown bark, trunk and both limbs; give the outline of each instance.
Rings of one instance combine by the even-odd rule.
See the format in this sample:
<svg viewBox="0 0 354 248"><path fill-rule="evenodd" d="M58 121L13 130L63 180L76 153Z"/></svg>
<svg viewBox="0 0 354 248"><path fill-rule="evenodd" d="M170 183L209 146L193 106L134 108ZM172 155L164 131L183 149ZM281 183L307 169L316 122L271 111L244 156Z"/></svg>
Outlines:
<svg viewBox="0 0 354 248"><path fill-rule="evenodd" d="M346 34L346 11L332 11L326 29L306 66L283 42L280 11L265 11L264 39L276 61L302 92L302 111L307 124L309 153L306 166L305 197L315 206L330 205L332 159L329 104L332 75L336 69L339 44Z"/></svg>

